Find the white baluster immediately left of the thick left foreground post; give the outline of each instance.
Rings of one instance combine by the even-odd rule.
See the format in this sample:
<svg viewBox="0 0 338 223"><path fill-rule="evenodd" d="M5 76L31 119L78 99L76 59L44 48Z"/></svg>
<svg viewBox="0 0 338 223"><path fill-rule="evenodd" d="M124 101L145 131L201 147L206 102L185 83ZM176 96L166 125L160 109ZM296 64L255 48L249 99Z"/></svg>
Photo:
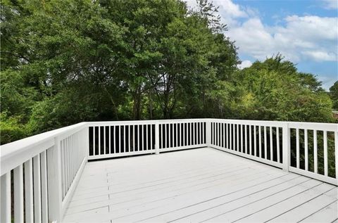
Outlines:
<svg viewBox="0 0 338 223"><path fill-rule="evenodd" d="M48 192L47 192L47 156L46 151L41 153L41 200L42 222L48 222Z"/></svg>

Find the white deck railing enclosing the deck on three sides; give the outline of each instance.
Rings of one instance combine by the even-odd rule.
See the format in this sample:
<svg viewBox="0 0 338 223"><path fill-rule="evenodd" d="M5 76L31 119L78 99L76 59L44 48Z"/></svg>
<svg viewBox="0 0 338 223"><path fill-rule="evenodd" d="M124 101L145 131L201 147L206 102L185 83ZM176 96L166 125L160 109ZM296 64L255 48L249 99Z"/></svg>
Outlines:
<svg viewBox="0 0 338 223"><path fill-rule="evenodd" d="M60 222L87 160L205 146L338 185L337 124L82 122L1 146L0 222Z"/></svg>

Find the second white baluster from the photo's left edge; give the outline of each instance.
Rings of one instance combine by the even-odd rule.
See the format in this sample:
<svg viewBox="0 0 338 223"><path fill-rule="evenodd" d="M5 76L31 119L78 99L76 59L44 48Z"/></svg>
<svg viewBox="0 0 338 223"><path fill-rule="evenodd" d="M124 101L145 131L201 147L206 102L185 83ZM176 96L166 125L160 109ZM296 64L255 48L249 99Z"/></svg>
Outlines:
<svg viewBox="0 0 338 223"><path fill-rule="evenodd" d="M14 222L23 222L23 165L14 169ZM35 188L35 186L34 186ZM1 207L2 209L2 207Z"/></svg>

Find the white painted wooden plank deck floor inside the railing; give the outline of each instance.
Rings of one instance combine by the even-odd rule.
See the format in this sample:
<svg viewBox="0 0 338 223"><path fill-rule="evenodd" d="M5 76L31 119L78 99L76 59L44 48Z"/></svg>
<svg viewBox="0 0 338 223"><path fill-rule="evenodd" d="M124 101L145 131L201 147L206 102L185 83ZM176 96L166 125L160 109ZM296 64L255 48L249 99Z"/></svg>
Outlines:
<svg viewBox="0 0 338 223"><path fill-rule="evenodd" d="M87 163L63 222L338 222L337 192L199 148Z"/></svg>

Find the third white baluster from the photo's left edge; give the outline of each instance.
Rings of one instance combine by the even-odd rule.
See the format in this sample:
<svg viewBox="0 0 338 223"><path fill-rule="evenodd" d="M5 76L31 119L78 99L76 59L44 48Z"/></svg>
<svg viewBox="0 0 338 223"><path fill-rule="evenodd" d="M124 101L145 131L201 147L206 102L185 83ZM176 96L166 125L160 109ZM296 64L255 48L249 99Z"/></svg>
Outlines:
<svg viewBox="0 0 338 223"><path fill-rule="evenodd" d="M1 196L4 196L4 193L1 193ZM3 208L2 203L1 208ZM25 163L25 219L26 222L34 222L32 159Z"/></svg>

